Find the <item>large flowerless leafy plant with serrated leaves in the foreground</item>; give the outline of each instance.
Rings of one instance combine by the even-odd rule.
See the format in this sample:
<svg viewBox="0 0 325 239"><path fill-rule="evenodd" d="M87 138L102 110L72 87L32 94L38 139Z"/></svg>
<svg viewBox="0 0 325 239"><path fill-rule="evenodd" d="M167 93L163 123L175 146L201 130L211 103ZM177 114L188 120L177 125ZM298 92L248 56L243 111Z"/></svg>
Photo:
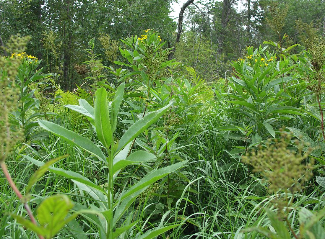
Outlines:
<svg viewBox="0 0 325 239"><path fill-rule="evenodd" d="M170 103L161 109L149 112L145 117L136 121L130 128L128 128L119 140L115 140L113 133L116 130L117 115L123 100L123 94L124 83L117 88L117 92L112 102L107 102L107 92L104 88L100 88L96 92L94 108L83 99L79 100L78 106L66 106L87 117L96 132L98 140L101 143L101 148L104 149L104 152L98 145L79 134L71 132L49 121L38 121L42 128L61 137L71 145L82 148L88 153L94 155L102 161L106 168L108 168L109 173L107 175L107 184L105 184L105 187L97 185L76 172L52 167L48 168L51 172L70 178L80 189L92 197L94 200L92 209L86 211L81 210L79 213L85 215L86 218L89 218L87 213L98 216L97 219L95 218L92 220L99 228L100 238L117 238L136 225L138 221L131 222L132 210L130 209L136 198L152 183L167 176L185 163L178 162L164 168L152 169L134 185L125 186L124 188L121 188L121 191L118 193L114 190L117 187L115 184L116 177L123 168L133 164L146 164L147 161L152 161L156 158L155 155L141 150L135 151L129 156L128 152L132 141L152 123L158 120L172 104ZM24 157L38 166L44 165L41 161L32 159L28 156ZM75 208L81 209L82 207L81 205L75 205ZM125 214L126 219L121 222L121 218ZM155 229L148 230L137 238L154 238L178 225L179 224L176 223L168 226L160 225Z"/></svg>

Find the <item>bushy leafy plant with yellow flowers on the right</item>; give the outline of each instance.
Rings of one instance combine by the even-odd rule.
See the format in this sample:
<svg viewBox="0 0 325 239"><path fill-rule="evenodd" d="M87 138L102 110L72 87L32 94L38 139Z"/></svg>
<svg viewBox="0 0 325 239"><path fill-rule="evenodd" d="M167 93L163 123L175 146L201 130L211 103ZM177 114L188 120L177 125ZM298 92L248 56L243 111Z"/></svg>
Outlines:
<svg viewBox="0 0 325 239"><path fill-rule="evenodd" d="M245 58L232 62L234 72L228 78L230 87L224 94L230 104L229 118L238 123L229 122L218 130L243 131L246 139L247 132L254 133L258 139L268 135L275 137L274 128L281 127L279 122L303 116L298 107L292 106L292 96L286 93L302 84L293 71L293 63L291 57L279 59L266 47L248 47ZM304 94L302 91L298 97L302 99ZM244 122L244 126L239 122Z"/></svg>

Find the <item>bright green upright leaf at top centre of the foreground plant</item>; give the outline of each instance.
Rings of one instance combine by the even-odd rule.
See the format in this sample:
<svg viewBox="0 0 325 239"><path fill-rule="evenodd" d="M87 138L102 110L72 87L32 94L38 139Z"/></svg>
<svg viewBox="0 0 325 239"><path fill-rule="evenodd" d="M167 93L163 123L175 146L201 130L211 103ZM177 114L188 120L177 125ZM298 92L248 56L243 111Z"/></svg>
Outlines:
<svg viewBox="0 0 325 239"><path fill-rule="evenodd" d="M112 141L112 129L107 106L107 92L103 87L96 91L95 127L99 140L108 149Z"/></svg>

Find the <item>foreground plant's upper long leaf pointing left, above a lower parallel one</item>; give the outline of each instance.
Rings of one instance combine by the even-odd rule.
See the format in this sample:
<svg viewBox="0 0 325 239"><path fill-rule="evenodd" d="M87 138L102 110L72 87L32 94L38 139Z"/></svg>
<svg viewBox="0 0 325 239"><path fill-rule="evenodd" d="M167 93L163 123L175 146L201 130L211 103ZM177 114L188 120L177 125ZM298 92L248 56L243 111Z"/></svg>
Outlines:
<svg viewBox="0 0 325 239"><path fill-rule="evenodd" d="M99 160L103 161L105 164L107 163L106 157L103 152L97 145L95 145L89 139L86 139L80 136L79 134L71 132L70 130L63 128L62 126L59 126L55 123L46 120L39 119L38 123L45 130L61 137L62 139L68 141L70 144L76 145L86 150L87 152L95 155L96 157L98 157Z"/></svg>

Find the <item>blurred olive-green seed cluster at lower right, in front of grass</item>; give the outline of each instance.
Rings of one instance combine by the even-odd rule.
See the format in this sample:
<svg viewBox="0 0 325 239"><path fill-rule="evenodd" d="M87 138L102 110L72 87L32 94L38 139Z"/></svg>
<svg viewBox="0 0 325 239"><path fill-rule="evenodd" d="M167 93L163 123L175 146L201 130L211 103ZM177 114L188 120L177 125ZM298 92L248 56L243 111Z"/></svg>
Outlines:
<svg viewBox="0 0 325 239"><path fill-rule="evenodd" d="M280 141L268 141L266 148L242 156L245 163L254 167L253 172L259 172L269 182L269 192L295 192L300 191L304 182L311 176L311 165L304 164L309 153L302 153L303 145L296 141L298 152L288 149L291 136L282 133ZM310 149L311 150L311 149ZM312 161L312 160L311 160Z"/></svg>

